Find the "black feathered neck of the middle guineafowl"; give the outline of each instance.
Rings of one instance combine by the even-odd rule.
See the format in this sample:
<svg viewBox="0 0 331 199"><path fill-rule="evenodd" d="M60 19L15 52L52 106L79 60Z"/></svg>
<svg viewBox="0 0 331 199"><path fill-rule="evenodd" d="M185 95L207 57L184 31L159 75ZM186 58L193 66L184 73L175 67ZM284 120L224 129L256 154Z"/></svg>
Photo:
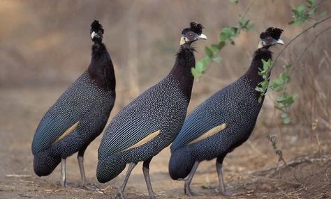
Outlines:
<svg viewBox="0 0 331 199"><path fill-rule="evenodd" d="M193 52L195 49L189 44L181 45L176 55L175 65L172 67L170 74L179 81L179 88L182 90L188 102L191 99L193 75L191 68L196 65L196 58Z"/></svg>

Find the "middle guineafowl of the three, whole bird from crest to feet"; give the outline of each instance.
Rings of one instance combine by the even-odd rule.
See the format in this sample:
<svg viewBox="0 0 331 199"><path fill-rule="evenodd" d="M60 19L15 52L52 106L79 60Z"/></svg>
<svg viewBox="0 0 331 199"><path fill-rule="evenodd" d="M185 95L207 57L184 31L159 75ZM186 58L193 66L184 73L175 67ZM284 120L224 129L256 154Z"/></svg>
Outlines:
<svg viewBox="0 0 331 199"><path fill-rule="evenodd" d="M149 180L149 163L152 158L170 145L182 128L191 98L195 66L191 44L206 39L203 26L191 22L182 31L180 49L175 65L159 83L147 89L129 103L110 122L98 149L99 182L108 182L130 164L117 196L124 198L124 189L131 171L139 161L144 161L145 176L150 198L155 198Z"/></svg>

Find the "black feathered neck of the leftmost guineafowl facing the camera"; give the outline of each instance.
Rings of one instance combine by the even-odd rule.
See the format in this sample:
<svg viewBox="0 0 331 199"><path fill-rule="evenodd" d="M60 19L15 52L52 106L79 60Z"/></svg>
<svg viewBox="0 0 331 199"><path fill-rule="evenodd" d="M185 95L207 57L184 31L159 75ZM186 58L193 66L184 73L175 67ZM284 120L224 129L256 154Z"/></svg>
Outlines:
<svg viewBox="0 0 331 199"><path fill-rule="evenodd" d="M115 91L116 80L114 67L103 43L94 43L92 46L91 63L88 73L98 87L103 90Z"/></svg>

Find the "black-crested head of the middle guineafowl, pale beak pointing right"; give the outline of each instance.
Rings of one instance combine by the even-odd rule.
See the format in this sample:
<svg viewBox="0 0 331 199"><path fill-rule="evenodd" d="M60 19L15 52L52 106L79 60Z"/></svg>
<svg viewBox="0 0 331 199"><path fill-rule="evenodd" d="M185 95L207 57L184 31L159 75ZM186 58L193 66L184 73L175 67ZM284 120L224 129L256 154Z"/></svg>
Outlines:
<svg viewBox="0 0 331 199"><path fill-rule="evenodd" d="M203 34L203 26L194 22L190 23L190 27L182 31L179 45L191 44L196 40L207 40L206 35Z"/></svg>

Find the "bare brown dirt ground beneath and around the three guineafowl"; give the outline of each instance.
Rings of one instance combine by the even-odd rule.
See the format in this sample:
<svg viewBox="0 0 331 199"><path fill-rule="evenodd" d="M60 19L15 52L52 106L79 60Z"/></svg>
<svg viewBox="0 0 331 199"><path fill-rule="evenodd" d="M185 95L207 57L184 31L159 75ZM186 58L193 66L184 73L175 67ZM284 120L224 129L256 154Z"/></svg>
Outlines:
<svg viewBox="0 0 331 199"><path fill-rule="evenodd" d="M125 172L107 184L96 181L101 136L87 148L84 164L87 179L101 187L101 191L61 189L59 166L47 177L34 174L30 149L34 131L45 111L64 89L0 88L1 199L115 198ZM115 106L111 118L119 111L117 109ZM320 137L322 145L318 147L314 138L297 138L291 133L293 131L279 137L279 148L290 167L277 168L278 157L272 145L265 135L255 132L247 143L228 154L224 162L226 186L235 195L225 197L215 193L218 182L213 160L200 164L191 184L193 191L200 196L194 198L331 198L330 132L321 134L324 137ZM169 157L170 150L166 148L154 157L150 166L156 198L189 198L184 195L184 183L173 181L168 175ZM80 173L75 155L68 158L67 173L68 184L79 186ZM148 198L141 163L133 170L125 193L127 198Z"/></svg>

